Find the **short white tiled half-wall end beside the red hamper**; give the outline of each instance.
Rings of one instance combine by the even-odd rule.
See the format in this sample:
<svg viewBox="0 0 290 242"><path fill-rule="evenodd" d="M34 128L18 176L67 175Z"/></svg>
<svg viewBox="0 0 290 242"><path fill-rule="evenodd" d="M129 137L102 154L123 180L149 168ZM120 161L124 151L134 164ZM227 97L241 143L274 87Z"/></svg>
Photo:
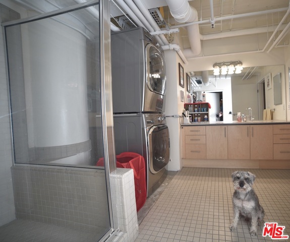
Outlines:
<svg viewBox="0 0 290 242"><path fill-rule="evenodd" d="M113 217L114 222L117 223L115 227L119 227L122 232L126 232L126 234L123 234L125 241L134 241L138 236L139 227L133 169L117 168L110 174L110 178Z"/></svg>

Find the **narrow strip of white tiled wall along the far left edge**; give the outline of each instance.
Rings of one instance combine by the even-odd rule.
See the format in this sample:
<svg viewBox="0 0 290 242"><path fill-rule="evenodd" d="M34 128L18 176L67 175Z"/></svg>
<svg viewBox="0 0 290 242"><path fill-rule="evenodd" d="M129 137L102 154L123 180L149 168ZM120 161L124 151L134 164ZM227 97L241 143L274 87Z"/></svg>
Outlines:
<svg viewBox="0 0 290 242"><path fill-rule="evenodd" d="M0 22L15 15L14 11L0 5ZM0 28L0 226L15 219L12 166L12 145L8 103L8 85L4 49L4 33Z"/></svg>

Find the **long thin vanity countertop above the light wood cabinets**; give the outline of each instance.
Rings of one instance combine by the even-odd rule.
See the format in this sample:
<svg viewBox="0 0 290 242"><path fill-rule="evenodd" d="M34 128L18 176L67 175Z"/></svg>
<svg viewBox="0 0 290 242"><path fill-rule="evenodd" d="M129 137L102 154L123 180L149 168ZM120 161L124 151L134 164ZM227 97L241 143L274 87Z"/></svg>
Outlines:
<svg viewBox="0 0 290 242"><path fill-rule="evenodd" d="M190 124L181 124L181 126L208 126L208 125L275 125L275 124L290 124L290 121L285 120L254 120L247 122L238 121L215 121L215 122L191 122Z"/></svg>

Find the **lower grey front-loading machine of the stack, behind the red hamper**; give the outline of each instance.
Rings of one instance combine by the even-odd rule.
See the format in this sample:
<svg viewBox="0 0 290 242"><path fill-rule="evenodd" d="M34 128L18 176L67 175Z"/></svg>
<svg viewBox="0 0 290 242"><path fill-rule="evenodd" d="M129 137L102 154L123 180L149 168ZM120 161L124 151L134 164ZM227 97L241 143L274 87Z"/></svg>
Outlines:
<svg viewBox="0 0 290 242"><path fill-rule="evenodd" d="M114 114L116 154L135 152L144 157L147 196L150 196L166 177L169 162L169 132L165 115L160 113Z"/></svg>

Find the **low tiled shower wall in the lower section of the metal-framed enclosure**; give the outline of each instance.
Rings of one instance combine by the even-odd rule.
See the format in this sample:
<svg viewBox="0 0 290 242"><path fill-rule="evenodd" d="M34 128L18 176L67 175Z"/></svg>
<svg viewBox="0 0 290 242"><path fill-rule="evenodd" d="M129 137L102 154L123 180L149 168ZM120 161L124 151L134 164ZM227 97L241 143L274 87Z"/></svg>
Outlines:
<svg viewBox="0 0 290 242"><path fill-rule="evenodd" d="M13 166L16 217L99 233L109 224L103 170Z"/></svg>

